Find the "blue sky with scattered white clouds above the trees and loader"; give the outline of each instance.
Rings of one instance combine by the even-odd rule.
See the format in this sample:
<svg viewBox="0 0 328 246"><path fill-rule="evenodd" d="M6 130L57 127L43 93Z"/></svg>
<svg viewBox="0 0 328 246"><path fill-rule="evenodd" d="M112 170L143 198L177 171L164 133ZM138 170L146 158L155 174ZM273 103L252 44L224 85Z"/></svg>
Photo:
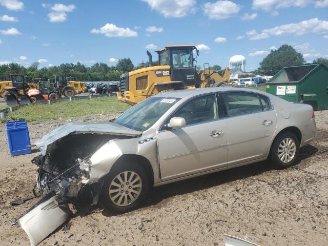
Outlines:
<svg viewBox="0 0 328 246"><path fill-rule="evenodd" d="M0 0L0 65L157 60L156 49L197 45L197 65L246 70L283 44L328 58L328 0Z"/></svg>

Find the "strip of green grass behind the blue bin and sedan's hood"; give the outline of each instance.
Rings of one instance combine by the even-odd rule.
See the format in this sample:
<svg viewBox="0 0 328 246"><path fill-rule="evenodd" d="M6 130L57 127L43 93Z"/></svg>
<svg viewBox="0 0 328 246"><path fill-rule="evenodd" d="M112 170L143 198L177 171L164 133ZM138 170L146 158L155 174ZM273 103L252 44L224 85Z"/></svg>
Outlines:
<svg viewBox="0 0 328 246"><path fill-rule="evenodd" d="M117 100L116 97L99 97L92 99L60 100L51 105L31 104L8 112L6 120L25 119L27 121L46 121L67 119L88 114L111 114L122 112L131 106Z"/></svg>

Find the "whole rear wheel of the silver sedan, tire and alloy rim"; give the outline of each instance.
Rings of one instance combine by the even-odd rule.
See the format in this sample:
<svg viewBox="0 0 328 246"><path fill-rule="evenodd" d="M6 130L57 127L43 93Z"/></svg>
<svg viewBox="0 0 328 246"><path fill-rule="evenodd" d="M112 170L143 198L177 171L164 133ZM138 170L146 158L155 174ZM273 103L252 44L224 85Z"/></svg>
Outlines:
<svg viewBox="0 0 328 246"><path fill-rule="evenodd" d="M295 134L285 132L276 137L270 153L270 159L277 169L291 167L299 153L299 140Z"/></svg>

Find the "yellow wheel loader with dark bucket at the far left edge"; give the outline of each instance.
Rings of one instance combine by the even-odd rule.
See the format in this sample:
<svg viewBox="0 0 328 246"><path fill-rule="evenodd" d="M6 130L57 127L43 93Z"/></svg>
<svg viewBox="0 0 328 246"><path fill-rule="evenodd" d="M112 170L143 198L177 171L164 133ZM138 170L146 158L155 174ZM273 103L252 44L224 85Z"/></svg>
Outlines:
<svg viewBox="0 0 328 246"><path fill-rule="evenodd" d="M9 79L0 81L0 97L11 107L33 103L27 95L29 89L30 85L23 73L10 74Z"/></svg>

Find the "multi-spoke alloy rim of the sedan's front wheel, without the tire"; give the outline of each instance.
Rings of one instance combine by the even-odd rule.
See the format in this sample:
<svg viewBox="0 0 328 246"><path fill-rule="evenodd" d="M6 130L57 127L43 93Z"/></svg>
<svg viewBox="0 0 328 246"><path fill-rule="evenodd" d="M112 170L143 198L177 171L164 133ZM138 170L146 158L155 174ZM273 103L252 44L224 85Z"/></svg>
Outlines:
<svg viewBox="0 0 328 246"><path fill-rule="evenodd" d="M113 178L109 186L109 197L116 206L128 206L140 195L142 181L133 171L124 171Z"/></svg>

